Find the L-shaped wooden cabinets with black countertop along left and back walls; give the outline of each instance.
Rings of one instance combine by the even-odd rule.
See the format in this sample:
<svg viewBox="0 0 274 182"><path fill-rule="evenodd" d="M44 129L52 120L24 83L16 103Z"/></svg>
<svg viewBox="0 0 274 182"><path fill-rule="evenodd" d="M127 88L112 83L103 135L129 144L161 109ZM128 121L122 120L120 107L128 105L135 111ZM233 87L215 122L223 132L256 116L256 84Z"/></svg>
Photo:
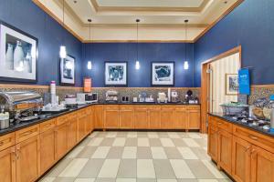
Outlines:
<svg viewBox="0 0 274 182"><path fill-rule="evenodd" d="M199 129L200 106L98 103L0 131L0 178L36 181L94 129Z"/></svg>

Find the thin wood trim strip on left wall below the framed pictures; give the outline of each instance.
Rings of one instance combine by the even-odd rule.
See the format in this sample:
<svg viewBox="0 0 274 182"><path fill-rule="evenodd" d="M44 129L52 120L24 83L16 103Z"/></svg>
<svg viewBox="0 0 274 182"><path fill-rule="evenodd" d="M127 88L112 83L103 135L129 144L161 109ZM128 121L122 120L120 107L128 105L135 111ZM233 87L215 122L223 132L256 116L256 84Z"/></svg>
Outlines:
<svg viewBox="0 0 274 182"><path fill-rule="evenodd" d="M25 89L49 89L49 86L37 85L16 85L16 84L0 84L0 88L25 88ZM57 89L82 89L83 87L77 86L57 86Z"/></svg>

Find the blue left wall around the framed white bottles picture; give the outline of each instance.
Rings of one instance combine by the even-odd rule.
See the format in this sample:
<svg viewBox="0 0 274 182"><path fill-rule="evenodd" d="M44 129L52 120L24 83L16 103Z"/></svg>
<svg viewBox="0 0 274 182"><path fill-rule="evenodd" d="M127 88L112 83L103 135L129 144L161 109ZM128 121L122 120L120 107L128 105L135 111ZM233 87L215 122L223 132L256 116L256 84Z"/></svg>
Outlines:
<svg viewBox="0 0 274 182"><path fill-rule="evenodd" d="M82 44L58 22L31 0L0 0L0 19L38 38L37 85L58 81L58 50L63 37L68 54L76 57L76 86L81 85Z"/></svg>

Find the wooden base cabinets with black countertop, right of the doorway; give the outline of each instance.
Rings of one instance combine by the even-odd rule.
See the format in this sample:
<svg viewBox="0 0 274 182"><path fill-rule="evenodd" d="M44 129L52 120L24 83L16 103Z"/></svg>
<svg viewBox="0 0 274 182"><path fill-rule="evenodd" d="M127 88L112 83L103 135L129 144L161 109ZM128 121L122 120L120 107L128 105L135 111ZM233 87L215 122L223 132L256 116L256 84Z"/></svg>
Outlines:
<svg viewBox="0 0 274 182"><path fill-rule="evenodd" d="M236 181L274 181L274 134L269 131L210 113L207 153Z"/></svg>

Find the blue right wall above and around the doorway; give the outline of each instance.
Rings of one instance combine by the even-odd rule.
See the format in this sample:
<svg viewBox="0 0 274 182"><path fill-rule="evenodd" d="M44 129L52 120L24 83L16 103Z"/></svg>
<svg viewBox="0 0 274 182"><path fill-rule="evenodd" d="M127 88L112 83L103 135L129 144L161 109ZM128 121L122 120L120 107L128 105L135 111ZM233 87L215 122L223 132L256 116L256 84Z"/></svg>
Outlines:
<svg viewBox="0 0 274 182"><path fill-rule="evenodd" d="M242 66L252 84L274 83L274 1L245 0L195 43L195 86L201 62L242 45Z"/></svg>

